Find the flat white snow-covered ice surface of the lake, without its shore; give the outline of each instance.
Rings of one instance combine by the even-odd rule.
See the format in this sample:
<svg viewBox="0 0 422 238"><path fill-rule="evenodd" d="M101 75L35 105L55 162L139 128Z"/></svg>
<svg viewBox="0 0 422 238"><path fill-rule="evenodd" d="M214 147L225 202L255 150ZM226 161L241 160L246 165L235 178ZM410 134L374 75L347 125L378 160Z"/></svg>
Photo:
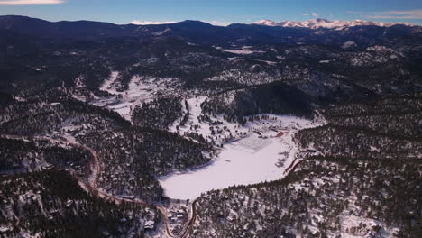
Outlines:
<svg viewBox="0 0 422 238"><path fill-rule="evenodd" d="M177 199L193 199L211 189L281 178L283 169L277 168L275 163L282 145L275 139L259 140L266 141L261 151L254 151L242 144L227 144L209 166L160 178L165 195Z"/></svg>

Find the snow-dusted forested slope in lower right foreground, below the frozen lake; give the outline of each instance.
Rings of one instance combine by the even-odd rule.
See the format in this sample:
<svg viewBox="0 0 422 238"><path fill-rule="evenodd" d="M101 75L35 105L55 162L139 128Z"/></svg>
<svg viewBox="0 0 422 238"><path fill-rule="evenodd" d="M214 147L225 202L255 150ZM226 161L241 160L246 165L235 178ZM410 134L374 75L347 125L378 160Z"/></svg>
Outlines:
<svg viewBox="0 0 422 238"><path fill-rule="evenodd" d="M193 236L415 238L421 169L415 160L305 160L280 181L201 196Z"/></svg>

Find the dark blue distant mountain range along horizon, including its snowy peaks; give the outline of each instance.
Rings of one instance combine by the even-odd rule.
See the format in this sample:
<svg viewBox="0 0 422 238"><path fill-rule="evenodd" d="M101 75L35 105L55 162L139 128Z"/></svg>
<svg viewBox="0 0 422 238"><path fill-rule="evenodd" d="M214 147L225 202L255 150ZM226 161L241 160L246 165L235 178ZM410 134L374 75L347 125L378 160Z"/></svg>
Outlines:
<svg viewBox="0 0 422 238"><path fill-rule="evenodd" d="M259 26L282 26L274 28L259 28ZM258 27L258 28L257 28ZM343 30L344 28L356 28L356 31L349 32L325 32L321 38L316 37L315 32L308 30L316 30L318 28ZM365 28L367 27L367 28ZM373 29L373 27L378 27ZM385 32L383 27L395 27ZM295 30L291 28L297 28ZM305 41L329 41L330 38L338 39L344 37L345 34L356 36L359 32L359 38L388 38L389 34L398 34L399 36L407 36L409 33L422 32L420 26L410 24L393 24L393 23L372 23L367 21L355 20L352 22L344 21L328 21L325 19L315 19L306 22L280 22L275 23L269 20L262 20L257 23L233 23L226 27L216 26L209 23L199 21L183 21L179 23L167 23L157 25L135 25L135 24L114 24L100 23L91 21L60 21L49 22L41 19L31 18L27 16L5 15L0 16L0 30L18 32L25 35L37 36L41 38L50 38L50 40L80 39L80 40L97 40L104 38L122 38L135 37L142 39L148 37L181 37L188 41L200 41L206 44L221 44L231 41L249 41L249 43L279 43L286 41L287 38L293 40L295 38L304 39ZM309 38L310 35L314 35ZM290 41L289 40L289 41ZM343 41L343 40L342 40ZM366 41L366 40L365 40ZM342 42L343 43L343 42Z"/></svg>

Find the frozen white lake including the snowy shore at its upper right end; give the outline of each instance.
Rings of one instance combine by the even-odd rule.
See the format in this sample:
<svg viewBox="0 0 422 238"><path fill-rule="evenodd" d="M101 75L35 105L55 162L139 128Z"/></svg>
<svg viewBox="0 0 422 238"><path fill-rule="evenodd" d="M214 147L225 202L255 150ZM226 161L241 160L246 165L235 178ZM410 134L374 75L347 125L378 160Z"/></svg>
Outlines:
<svg viewBox="0 0 422 238"><path fill-rule="evenodd" d="M287 133L276 137L277 132L268 130L261 133L266 137L264 139L250 132L243 139L225 144L225 148L210 165L159 178L165 195L175 199L195 199L212 189L282 178L298 151L297 145L292 141L293 134L298 129L315 124L292 116L278 116L277 124L285 126ZM250 123L246 124L246 127L252 126ZM284 165L276 166L278 160L283 158Z"/></svg>

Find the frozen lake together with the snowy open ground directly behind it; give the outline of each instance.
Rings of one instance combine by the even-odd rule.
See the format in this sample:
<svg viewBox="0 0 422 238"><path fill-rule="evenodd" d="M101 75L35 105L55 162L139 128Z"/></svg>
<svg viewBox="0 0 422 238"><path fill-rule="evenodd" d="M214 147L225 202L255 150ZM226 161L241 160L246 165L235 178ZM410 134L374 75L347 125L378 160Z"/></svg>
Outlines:
<svg viewBox="0 0 422 238"><path fill-rule="evenodd" d="M197 120L201 113L200 104L205 100L204 96L187 100L191 115L188 125L179 128L179 133L196 132L206 139L222 142L223 136L211 134L210 125ZM159 178L165 195L175 199L194 199L212 189L282 178L298 152L297 144L292 140L294 133L318 124L295 116L263 115L264 119L248 121L240 127L226 122L222 116L217 117L223 122L219 128L227 128L222 134L232 134L234 138L224 144L216 159L206 167ZM171 131L176 130L176 124ZM195 129L194 125L199 127Z"/></svg>

